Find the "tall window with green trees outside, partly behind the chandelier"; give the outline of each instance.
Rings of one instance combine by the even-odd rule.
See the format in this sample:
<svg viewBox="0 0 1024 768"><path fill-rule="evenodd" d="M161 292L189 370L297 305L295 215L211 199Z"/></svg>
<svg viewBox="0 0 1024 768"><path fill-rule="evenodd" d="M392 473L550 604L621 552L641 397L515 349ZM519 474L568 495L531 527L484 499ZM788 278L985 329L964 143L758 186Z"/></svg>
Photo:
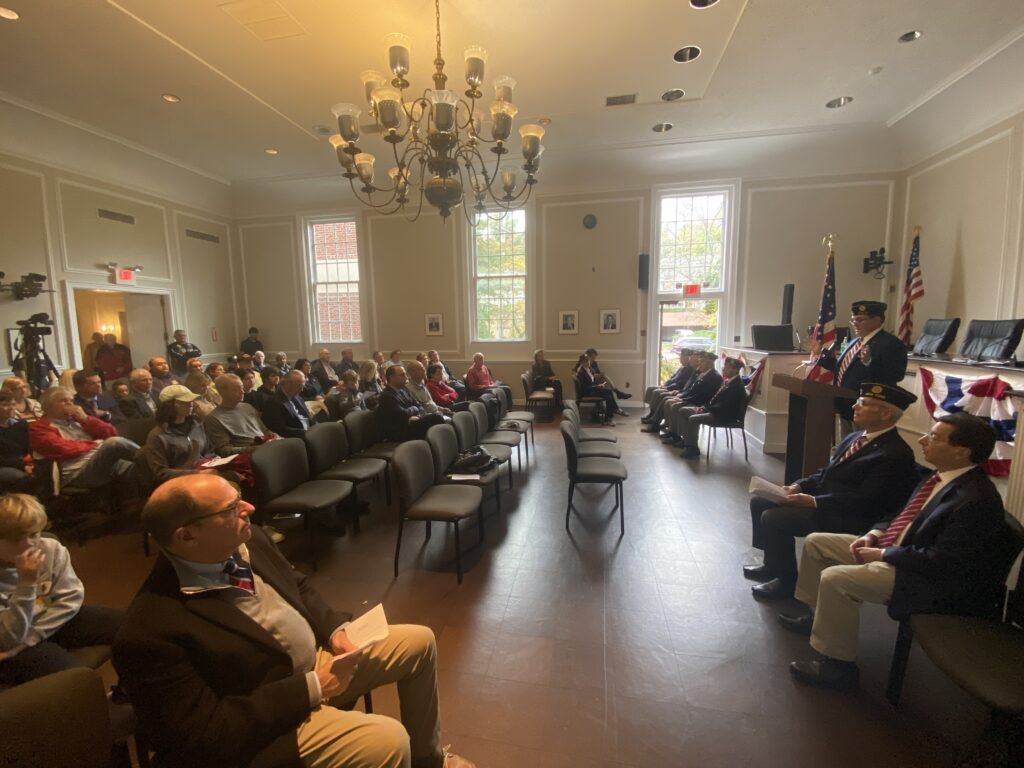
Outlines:
<svg viewBox="0 0 1024 768"><path fill-rule="evenodd" d="M526 212L479 214L473 232L475 341L526 338Z"/></svg>

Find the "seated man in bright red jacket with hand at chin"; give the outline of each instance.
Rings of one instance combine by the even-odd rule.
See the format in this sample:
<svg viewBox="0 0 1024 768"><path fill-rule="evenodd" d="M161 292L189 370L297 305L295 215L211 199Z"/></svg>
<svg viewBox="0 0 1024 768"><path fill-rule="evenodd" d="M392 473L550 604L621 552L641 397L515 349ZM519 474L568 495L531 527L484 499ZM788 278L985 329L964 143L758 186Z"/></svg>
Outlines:
<svg viewBox="0 0 1024 768"><path fill-rule="evenodd" d="M86 416L70 389L50 387L41 403L43 418L29 425L29 444L35 455L57 462L61 485L99 487L111 480L134 480L138 445L118 437L113 425Z"/></svg>

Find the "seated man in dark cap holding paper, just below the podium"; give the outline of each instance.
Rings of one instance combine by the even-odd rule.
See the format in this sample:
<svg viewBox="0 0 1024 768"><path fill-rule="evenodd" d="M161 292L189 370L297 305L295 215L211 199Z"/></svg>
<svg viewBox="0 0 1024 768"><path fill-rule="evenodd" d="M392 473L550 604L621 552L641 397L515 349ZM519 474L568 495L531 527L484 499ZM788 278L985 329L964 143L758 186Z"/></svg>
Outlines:
<svg viewBox="0 0 1024 768"><path fill-rule="evenodd" d="M836 447L831 461L786 485L778 502L751 499L752 545L764 550L763 565L744 565L759 600L793 597L797 586L798 536L816 530L860 534L879 517L895 517L920 479L913 451L896 423L916 396L900 387L865 382L853 407L857 427Z"/></svg>

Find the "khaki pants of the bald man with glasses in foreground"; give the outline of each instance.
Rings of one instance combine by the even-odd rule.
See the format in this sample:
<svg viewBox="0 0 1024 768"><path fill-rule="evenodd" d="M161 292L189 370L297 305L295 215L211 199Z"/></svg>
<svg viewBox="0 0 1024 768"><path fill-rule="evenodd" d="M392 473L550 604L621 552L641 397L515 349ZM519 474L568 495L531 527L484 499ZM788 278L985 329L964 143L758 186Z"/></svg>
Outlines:
<svg viewBox="0 0 1024 768"><path fill-rule="evenodd" d="M329 651L317 651L317 660ZM299 726L299 756L309 768L410 768L439 765L437 647L433 633L392 625L387 639L369 648L343 701L379 685L397 683L401 722L383 715L325 705ZM338 701L341 703L342 701Z"/></svg>

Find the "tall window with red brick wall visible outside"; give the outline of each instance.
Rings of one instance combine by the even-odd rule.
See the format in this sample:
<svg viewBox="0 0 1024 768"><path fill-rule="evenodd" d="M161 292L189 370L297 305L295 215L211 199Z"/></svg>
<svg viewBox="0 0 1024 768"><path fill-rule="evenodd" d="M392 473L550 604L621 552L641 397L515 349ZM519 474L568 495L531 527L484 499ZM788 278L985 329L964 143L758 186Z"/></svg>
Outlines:
<svg viewBox="0 0 1024 768"><path fill-rule="evenodd" d="M318 343L361 341L355 222L319 220L308 228L313 336Z"/></svg>

